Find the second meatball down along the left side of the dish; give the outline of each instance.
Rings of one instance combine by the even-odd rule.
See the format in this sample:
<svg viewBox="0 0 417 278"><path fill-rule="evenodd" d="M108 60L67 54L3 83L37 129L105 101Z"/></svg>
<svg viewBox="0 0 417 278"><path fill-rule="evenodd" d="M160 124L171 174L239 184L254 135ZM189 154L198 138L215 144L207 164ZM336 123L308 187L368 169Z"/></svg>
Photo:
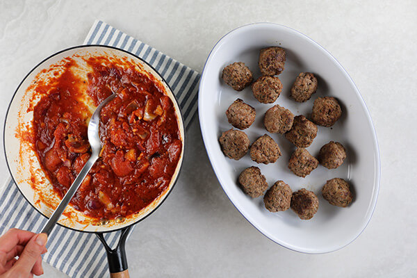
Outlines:
<svg viewBox="0 0 417 278"><path fill-rule="evenodd" d="M247 129L253 124L256 111L252 106L245 104L242 99L236 99L227 108L226 116L229 123L236 129Z"/></svg>

